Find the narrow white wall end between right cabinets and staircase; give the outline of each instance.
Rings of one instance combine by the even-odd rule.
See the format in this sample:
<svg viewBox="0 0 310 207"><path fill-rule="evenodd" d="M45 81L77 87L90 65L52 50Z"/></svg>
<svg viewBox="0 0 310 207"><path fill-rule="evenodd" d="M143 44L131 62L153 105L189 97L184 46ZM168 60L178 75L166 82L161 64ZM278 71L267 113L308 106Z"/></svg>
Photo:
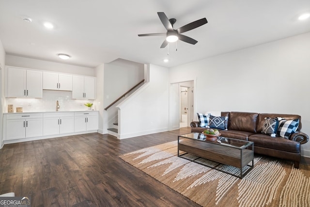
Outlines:
<svg viewBox="0 0 310 207"><path fill-rule="evenodd" d="M98 122L98 132L103 134L103 117L104 117L104 109L103 109L103 80L104 80L104 64L100 64L95 68L95 76L96 76L96 110L99 111L99 122Z"/></svg>

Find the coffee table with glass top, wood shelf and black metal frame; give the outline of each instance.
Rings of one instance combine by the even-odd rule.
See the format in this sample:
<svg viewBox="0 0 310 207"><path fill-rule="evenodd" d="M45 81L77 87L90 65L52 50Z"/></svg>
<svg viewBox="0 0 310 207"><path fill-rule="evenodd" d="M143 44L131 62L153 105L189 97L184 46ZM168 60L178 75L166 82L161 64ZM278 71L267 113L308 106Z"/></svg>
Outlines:
<svg viewBox="0 0 310 207"><path fill-rule="evenodd" d="M254 143L227 137L217 137L217 141L207 141L202 133L188 133L178 136L178 157L188 159L185 155L190 153L213 160L217 163L231 165L240 169L238 173L223 170L222 165L208 165L196 159L188 159L203 164L218 171L243 178L254 167ZM182 151L180 153L180 151ZM251 162L251 165L249 164Z"/></svg>

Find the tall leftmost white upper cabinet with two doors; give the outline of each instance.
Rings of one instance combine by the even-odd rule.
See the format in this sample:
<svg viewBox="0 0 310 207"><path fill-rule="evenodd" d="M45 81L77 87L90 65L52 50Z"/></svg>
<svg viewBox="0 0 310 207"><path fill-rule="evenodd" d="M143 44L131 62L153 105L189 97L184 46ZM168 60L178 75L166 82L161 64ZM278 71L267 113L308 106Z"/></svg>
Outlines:
<svg viewBox="0 0 310 207"><path fill-rule="evenodd" d="M42 71L7 67L6 97L42 98Z"/></svg>

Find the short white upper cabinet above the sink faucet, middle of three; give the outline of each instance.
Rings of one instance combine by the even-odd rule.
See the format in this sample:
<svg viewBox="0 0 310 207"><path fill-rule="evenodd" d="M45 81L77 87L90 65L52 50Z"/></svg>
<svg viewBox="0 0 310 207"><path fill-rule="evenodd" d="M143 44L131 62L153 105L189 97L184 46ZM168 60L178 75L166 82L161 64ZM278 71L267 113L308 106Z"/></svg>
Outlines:
<svg viewBox="0 0 310 207"><path fill-rule="evenodd" d="M43 89L72 91L72 75L43 72Z"/></svg>

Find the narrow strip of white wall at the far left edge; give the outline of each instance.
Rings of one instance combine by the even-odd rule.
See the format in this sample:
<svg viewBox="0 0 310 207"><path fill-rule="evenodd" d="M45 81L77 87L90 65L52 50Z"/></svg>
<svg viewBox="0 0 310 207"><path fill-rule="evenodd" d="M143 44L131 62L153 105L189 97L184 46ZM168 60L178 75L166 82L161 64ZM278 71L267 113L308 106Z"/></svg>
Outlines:
<svg viewBox="0 0 310 207"><path fill-rule="evenodd" d="M4 65L5 65L5 51L0 40L0 148L3 146L2 141L2 112L4 111Z"/></svg>

